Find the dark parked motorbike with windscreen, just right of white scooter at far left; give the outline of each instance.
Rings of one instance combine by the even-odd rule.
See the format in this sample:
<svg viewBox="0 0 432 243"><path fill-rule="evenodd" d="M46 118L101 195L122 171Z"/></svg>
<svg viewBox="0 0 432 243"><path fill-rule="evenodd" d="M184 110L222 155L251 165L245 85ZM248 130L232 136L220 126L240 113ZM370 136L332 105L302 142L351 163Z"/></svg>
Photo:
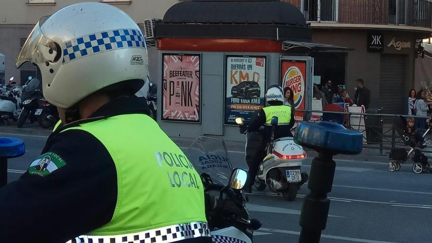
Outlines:
<svg viewBox="0 0 432 243"><path fill-rule="evenodd" d="M17 127L22 128L27 119L33 123L37 120L35 111L39 108L39 99L42 97L42 92L37 90L40 81L38 79L30 79L23 85L23 92L21 100L24 100L20 106L22 108L20 115L18 116Z"/></svg>

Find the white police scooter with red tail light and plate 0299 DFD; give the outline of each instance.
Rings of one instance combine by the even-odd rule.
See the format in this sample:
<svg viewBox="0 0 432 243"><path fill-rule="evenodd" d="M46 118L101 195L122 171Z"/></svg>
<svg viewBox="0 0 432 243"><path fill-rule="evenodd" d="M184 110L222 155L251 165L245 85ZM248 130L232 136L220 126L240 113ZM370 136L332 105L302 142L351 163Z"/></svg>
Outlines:
<svg viewBox="0 0 432 243"><path fill-rule="evenodd" d="M294 201L300 186L307 182L307 172L301 173L301 164L306 158L303 148L294 142L293 137L281 137L274 140L274 129L278 118L271 118L271 139L267 146L267 156L260 163L254 186L257 190L269 189L282 194L287 201ZM243 125L243 118L236 123ZM244 126L241 126L241 133Z"/></svg>

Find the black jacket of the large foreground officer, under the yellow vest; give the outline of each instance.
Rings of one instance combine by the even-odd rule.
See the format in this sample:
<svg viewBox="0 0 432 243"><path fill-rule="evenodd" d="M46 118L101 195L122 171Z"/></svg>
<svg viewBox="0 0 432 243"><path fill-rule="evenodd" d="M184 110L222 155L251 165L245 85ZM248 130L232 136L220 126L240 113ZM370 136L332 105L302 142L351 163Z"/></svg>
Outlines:
<svg viewBox="0 0 432 243"><path fill-rule="evenodd" d="M145 99L120 98L90 118L133 113L149 113ZM60 133L68 126L50 135L42 151L55 153L66 165L47 176L27 170L0 189L1 243L65 243L111 220L117 202L115 164L93 135L82 130Z"/></svg>

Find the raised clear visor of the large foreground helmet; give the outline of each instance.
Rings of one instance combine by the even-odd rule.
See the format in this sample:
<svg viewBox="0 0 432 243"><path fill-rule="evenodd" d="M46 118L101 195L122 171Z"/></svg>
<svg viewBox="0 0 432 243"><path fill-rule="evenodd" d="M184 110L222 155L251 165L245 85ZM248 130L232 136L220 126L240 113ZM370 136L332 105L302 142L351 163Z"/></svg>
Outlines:
<svg viewBox="0 0 432 243"><path fill-rule="evenodd" d="M56 51L56 46L54 42L48 39L41 30L41 26L49 17L50 16L41 18L39 22L34 26L33 30L31 30L26 42L24 43L23 49L21 49L21 52L18 55L17 61L15 63L15 66L17 68L21 67L21 65L23 65L27 61L32 63L53 61L45 58L41 52L42 48L51 48Z"/></svg>

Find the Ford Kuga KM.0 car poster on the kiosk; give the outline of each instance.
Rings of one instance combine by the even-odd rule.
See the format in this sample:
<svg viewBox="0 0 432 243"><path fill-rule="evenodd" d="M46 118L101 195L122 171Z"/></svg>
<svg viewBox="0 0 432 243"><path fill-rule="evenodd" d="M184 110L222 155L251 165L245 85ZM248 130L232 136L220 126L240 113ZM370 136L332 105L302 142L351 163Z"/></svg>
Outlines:
<svg viewBox="0 0 432 243"><path fill-rule="evenodd" d="M266 105L266 56L226 56L224 124L249 121Z"/></svg>

